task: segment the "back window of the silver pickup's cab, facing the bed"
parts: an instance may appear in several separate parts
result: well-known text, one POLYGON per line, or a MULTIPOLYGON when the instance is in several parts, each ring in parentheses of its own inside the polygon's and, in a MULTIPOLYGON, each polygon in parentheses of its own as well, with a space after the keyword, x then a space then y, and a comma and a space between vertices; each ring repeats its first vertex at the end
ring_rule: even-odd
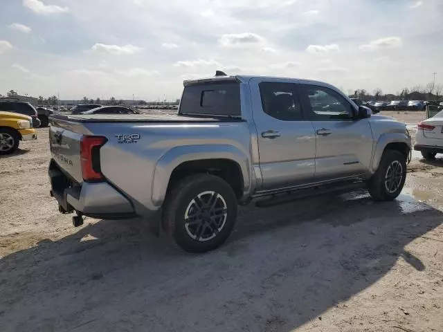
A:
POLYGON ((179 113, 241 116, 240 86, 237 82, 186 86, 179 113))

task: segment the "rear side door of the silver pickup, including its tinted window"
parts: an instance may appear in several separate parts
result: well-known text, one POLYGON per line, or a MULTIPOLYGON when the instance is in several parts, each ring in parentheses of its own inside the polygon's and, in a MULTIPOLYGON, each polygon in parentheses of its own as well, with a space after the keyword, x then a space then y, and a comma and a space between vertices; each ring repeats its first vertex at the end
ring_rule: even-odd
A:
POLYGON ((263 180, 259 191, 314 181, 316 136, 303 116, 296 84, 253 79, 250 86, 263 180))

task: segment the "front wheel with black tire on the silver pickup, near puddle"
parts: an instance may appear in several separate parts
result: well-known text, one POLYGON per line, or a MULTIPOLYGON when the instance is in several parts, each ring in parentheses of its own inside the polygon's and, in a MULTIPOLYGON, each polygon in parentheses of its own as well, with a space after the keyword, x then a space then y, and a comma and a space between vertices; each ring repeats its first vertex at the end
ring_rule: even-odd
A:
POLYGON ((370 195, 377 201, 392 201, 406 181, 406 157, 396 150, 385 150, 379 168, 368 182, 370 195))

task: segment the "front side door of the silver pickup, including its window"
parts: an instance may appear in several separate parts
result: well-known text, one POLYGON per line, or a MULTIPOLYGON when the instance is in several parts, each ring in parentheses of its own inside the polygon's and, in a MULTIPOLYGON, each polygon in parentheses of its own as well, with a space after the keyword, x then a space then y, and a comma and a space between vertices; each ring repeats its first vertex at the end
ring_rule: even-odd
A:
POLYGON ((338 91, 316 84, 299 86, 316 132, 316 181, 368 172, 373 148, 369 120, 354 120, 354 106, 338 91))

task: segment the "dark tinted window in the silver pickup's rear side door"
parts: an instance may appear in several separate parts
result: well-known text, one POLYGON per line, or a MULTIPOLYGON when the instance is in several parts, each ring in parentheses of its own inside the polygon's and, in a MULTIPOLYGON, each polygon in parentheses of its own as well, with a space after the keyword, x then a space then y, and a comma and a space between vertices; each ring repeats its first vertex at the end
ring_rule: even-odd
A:
POLYGON ((302 120, 295 84, 262 82, 260 96, 263 111, 269 116, 285 121, 302 120))

